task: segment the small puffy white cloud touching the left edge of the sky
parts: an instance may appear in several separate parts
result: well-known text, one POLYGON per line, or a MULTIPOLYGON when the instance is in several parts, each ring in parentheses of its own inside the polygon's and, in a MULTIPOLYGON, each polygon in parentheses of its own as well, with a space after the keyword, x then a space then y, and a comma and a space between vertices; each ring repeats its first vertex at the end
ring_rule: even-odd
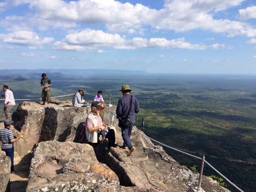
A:
POLYGON ((16 45, 44 45, 51 43, 53 37, 39 38, 33 31, 14 31, 10 34, 0 34, 0 38, 4 39, 5 43, 11 43, 16 45))

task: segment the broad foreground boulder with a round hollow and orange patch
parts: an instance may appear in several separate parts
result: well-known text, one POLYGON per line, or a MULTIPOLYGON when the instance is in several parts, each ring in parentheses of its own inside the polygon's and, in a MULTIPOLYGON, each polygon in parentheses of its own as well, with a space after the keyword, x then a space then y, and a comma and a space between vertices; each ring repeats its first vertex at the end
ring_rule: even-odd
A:
POLYGON ((118 186, 119 179, 90 145, 46 141, 34 151, 26 191, 93 191, 105 185, 118 186))

